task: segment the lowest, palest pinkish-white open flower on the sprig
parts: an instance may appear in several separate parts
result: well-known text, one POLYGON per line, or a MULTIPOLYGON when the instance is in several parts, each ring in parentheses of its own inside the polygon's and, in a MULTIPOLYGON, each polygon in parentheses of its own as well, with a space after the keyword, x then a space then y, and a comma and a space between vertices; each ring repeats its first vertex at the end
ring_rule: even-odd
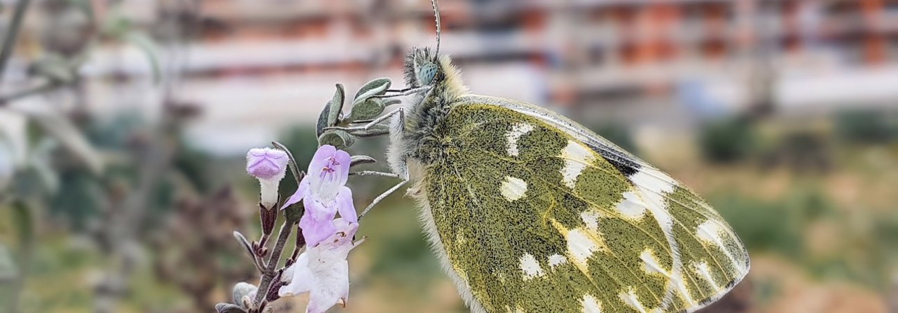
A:
POLYGON ((349 264, 346 258, 349 251, 362 242, 352 242, 358 222, 344 218, 332 222, 337 231, 322 240, 320 245, 308 246, 281 275, 281 281, 286 285, 277 291, 277 295, 290 297, 309 292, 306 313, 323 313, 337 303, 345 306, 349 296, 349 264))

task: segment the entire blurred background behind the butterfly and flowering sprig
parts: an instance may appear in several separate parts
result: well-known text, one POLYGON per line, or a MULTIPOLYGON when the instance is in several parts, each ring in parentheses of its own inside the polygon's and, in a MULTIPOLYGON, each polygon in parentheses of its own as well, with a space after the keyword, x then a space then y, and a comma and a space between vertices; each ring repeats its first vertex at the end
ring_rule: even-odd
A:
MULTIPOLYGON (((705 312, 898 312, 898 1, 440 4, 471 91, 564 113, 726 217, 753 268, 705 312)), ((229 301, 258 281, 231 235, 260 233, 245 152, 305 163, 334 83, 401 86, 434 33, 426 0, 0 0, 0 312, 229 301)), ((350 182, 358 207, 389 184, 350 182)), ((400 194, 332 311, 466 311, 400 194)))

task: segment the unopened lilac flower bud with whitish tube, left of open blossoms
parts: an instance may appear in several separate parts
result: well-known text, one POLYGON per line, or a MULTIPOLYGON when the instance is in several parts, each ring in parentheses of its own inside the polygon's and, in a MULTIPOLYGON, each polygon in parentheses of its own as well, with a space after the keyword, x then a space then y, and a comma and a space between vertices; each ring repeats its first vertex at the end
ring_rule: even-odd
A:
POLYGON ((266 208, 277 204, 277 186, 286 174, 289 161, 286 152, 271 148, 256 148, 246 152, 246 171, 260 183, 260 203, 266 208))

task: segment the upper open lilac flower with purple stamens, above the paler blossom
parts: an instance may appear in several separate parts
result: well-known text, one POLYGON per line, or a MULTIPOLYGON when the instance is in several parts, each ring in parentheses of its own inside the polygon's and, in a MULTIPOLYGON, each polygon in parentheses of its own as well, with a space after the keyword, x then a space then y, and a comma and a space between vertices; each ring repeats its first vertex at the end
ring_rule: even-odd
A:
POLYGON ((308 174, 299 183, 296 193, 282 207, 300 200, 305 205, 299 227, 306 245, 314 247, 337 232, 333 219, 339 212, 348 222, 358 222, 352 190, 346 185, 349 178, 349 153, 332 145, 322 145, 309 164, 308 174))

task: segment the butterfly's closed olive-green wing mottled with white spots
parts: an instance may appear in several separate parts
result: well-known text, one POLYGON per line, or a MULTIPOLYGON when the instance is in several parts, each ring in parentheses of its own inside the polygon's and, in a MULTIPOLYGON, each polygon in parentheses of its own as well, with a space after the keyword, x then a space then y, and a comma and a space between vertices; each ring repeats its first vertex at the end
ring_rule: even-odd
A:
POLYGON ((692 311, 747 274, 741 241, 689 189, 494 100, 454 104, 420 148, 437 247, 475 311, 692 311))

